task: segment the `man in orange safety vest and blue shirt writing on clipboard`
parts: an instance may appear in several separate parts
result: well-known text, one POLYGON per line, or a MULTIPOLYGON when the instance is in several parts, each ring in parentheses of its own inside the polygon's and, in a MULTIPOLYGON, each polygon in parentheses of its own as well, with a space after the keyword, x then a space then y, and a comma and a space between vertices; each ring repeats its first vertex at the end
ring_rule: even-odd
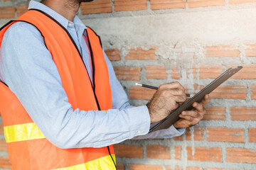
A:
POLYGON ((1 28, 0 112, 12 169, 116 169, 112 145, 174 137, 206 113, 201 103, 149 132, 186 100, 163 84, 146 106, 129 105, 100 38, 76 16, 81 0, 31 1, 1 28))

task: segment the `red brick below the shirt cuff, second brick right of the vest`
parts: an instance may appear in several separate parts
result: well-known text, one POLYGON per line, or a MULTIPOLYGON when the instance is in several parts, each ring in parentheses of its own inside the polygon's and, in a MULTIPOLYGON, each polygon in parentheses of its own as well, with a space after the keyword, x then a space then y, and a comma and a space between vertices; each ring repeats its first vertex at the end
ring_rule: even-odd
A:
POLYGON ((146 157, 152 159, 171 159, 171 153, 169 147, 149 145, 146 147, 146 157))

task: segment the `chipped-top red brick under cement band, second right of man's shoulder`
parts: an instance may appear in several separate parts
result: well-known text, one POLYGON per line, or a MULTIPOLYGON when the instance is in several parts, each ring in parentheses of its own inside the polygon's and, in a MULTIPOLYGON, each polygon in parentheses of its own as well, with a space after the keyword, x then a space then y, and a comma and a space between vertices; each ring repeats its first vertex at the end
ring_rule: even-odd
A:
POLYGON ((149 47, 142 49, 142 47, 132 48, 129 54, 125 57, 126 60, 154 60, 156 59, 157 47, 149 47))

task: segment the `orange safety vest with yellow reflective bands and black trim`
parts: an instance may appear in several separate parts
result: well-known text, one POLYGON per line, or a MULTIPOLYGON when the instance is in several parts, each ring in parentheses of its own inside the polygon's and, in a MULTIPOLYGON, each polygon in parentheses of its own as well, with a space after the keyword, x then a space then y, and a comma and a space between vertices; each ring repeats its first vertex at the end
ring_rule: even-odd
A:
MULTIPOLYGON (((100 37, 87 28, 92 57, 93 82, 68 30, 36 9, 29 10, 16 21, 0 29, 0 45, 6 30, 16 22, 36 26, 58 67, 68 101, 82 111, 107 111, 112 108, 112 94, 100 37), (86 98, 85 98, 86 96, 86 98)), ((0 82, 0 113, 4 121, 4 135, 12 169, 116 169, 114 149, 60 149, 51 144, 38 129, 16 95, 0 82)))

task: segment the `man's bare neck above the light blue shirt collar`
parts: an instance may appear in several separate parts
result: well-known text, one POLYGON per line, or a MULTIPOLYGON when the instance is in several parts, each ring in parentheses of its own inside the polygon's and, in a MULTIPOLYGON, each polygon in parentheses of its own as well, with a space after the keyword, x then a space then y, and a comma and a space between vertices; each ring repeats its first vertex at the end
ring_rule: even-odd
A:
POLYGON ((74 21, 80 6, 75 0, 42 0, 41 3, 60 13, 61 16, 64 16, 71 22, 74 21))

